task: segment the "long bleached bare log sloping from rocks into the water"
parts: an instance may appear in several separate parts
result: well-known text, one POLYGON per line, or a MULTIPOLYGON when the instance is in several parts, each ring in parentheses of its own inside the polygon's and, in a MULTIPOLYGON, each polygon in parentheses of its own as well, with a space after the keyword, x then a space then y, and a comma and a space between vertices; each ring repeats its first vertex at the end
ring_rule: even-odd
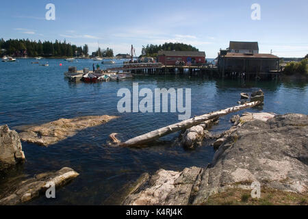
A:
POLYGON ((238 105, 235 107, 229 107, 224 110, 219 110, 216 112, 211 112, 209 114, 204 114, 202 116, 196 116, 194 118, 190 118, 188 120, 183 120, 180 123, 175 123, 172 125, 168 125, 167 127, 163 127, 160 129, 156 129, 154 131, 151 131, 149 133, 145 133, 141 136, 137 136, 135 138, 131 138, 127 140, 126 142, 120 143, 120 146, 142 146, 146 143, 152 142, 153 140, 157 140, 158 138, 161 138, 162 136, 166 136, 170 133, 180 131, 182 129, 189 129, 190 127, 193 127, 194 125, 198 125, 200 123, 203 123, 207 120, 211 120, 213 118, 216 118, 217 116, 225 116, 227 114, 238 112, 240 110, 244 110, 246 108, 255 107, 256 105, 259 105, 260 101, 255 101, 251 103, 245 103, 243 105, 238 105))

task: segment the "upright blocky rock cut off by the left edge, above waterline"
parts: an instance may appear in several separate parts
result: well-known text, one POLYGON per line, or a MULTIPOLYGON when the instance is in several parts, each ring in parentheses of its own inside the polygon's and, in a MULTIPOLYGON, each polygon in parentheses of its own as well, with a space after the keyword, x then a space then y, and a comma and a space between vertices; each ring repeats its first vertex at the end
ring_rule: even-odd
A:
POLYGON ((8 125, 0 126, 0 170, 25 160, 18 133, 8 125))

